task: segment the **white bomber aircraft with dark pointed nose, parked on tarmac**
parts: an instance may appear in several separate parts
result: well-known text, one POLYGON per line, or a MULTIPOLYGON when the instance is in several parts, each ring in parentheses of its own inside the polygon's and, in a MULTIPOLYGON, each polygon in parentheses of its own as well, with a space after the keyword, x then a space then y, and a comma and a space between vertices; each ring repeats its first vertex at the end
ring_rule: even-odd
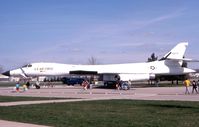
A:
POLYGON ((31 63, 5 72, 8 76, 59 76, 68 74, 116 74, 121 80, 145 80, 157 75, 182 75, 195 72, 182 67, 183 56, 188 43, 179 43, 162 60, 145 63, 108 65, 72 65, 60 63, 31 63))

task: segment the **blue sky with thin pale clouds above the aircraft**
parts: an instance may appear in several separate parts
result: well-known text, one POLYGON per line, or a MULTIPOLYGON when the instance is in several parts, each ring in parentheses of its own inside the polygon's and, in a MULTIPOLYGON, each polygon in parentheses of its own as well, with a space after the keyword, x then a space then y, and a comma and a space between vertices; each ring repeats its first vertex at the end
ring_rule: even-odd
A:
MULTIPOLYGON (((197 0, 0 0, 0 65, 146 62, 189 42, 199 59, 197 0)), ((199 63, 189 63, 199 68, 199 63)))

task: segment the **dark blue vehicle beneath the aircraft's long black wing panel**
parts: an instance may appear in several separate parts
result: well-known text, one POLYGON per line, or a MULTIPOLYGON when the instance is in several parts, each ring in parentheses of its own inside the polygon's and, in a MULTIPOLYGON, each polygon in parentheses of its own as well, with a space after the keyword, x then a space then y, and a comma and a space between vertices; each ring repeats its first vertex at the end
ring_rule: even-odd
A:
POLYGON ((83 78, 67 78, 67 77, 62 78, 63 84, 72 85, 72 86, 76 84, 81 85, 83 81, 84 81, 83 78))

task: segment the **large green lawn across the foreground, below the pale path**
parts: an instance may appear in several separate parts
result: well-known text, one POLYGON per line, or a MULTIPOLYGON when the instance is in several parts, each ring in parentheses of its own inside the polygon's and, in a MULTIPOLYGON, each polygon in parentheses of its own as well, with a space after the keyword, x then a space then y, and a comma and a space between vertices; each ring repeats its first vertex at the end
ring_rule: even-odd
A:
POLYGON ((106 100, 0 107, 0 119, 56 127, 198 127, 199 102, 106 100))

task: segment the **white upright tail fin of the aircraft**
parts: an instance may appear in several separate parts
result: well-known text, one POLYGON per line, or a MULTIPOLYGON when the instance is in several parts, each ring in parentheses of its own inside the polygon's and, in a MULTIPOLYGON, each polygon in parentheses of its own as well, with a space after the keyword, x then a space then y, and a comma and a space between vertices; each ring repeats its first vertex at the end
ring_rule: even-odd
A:
POLYGON ((170 52, 164 55, 160 60, 183 60, 186 48, 188 46, 188 42, 182 42, 177 44, 170 52))

